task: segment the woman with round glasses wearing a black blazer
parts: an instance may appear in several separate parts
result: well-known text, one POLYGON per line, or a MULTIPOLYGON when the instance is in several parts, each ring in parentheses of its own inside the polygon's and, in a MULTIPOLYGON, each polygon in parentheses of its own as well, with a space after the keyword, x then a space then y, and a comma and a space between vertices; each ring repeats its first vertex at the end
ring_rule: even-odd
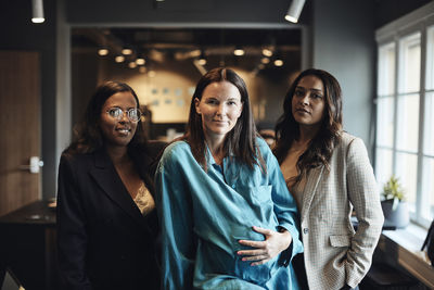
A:
POLYGON ((100 86, 59 167, 66 289, 158 289, 148 152, 136 92, 123 83, 100 86))

